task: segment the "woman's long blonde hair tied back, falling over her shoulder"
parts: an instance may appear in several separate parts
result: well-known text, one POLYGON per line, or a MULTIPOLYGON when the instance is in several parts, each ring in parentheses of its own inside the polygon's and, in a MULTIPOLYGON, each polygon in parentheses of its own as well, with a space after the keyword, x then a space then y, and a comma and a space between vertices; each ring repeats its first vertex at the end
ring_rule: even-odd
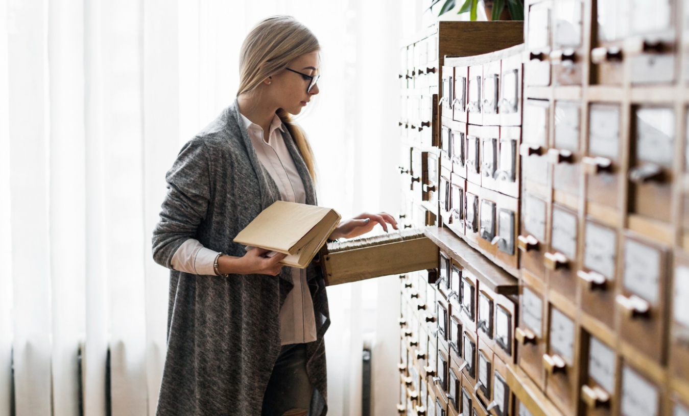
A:
MULTIPOLYGON (((294 17, 274 16, 260 21, 249 32, 239 54, 239 90, 237 96, 253 91, 272 74, 285 70, 295 58, 318 52, 320 45, 311 30, 294 17)), ((316 181, 313 151, 304 131, 291 120, 285 109, 276 111, 294 138, 304 158, 311 179, 316 181)))

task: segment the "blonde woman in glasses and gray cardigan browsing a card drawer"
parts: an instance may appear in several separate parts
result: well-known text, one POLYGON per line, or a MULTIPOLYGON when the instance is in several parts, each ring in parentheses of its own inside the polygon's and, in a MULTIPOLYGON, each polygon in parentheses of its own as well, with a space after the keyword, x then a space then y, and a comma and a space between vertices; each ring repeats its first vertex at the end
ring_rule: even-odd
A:
MULTIPOLYGON (((291 17, 260 22, 240 55, 235 102, 166 175, 153 256, 170 272, 158 415, 324 415, 327 295, 313 265, 232 240, 274 201, 316 204, 313 154, 290 121, 318 94, 318 41, 291 17)), ((331 234, 395 220, 364 213, 331 234)))

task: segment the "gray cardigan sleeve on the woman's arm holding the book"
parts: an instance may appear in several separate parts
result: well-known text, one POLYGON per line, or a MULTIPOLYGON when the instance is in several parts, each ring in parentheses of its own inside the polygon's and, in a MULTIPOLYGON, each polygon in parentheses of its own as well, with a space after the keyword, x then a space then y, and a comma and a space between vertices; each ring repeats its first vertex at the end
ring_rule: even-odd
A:
POLYGON ((211 164, 200 138, 187 142, 165 175, 167 195, 161 206, 161 220, 153 230, 153 259, 174 269, 172 258, 188 239, 195 239, 205 219, 209 201, 211 164))

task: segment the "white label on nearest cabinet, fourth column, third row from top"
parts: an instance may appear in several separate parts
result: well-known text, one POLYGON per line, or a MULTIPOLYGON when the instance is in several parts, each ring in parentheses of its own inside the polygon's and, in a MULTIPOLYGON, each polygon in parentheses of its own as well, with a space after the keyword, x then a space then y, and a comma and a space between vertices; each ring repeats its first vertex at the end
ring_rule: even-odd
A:
POLYGON ((624 287, 657 305, 660 285, 660 252, 638 241, 624 243, 624 287))

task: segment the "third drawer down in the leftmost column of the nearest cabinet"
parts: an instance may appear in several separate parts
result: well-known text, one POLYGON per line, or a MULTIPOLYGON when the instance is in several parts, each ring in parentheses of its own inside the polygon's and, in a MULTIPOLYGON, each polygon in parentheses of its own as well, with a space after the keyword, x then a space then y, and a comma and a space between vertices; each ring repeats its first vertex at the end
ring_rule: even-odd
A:
POLYGON ((533 193, 526 193, 522 199, 522 234, 517 239, 520 249, 520 264, 542 281, 545 280, 544 254, 548 252, 548 211, 550 204, 533 193))

